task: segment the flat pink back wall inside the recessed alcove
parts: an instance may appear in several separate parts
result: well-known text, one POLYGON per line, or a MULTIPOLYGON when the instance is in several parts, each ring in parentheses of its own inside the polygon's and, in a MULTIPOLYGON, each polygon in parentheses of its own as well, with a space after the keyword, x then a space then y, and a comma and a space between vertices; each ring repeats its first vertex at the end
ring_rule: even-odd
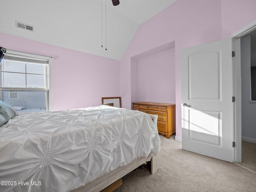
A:
POLYGON ((174 48, 139 59, 138 73, 138 101, 175 103, 174 48))

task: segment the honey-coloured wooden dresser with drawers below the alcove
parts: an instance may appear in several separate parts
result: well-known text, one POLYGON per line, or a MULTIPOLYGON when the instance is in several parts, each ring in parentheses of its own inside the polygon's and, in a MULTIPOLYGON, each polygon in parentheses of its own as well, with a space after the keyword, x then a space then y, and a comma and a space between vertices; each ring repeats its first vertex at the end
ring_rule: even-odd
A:
POLYGON ((158 132, 170 138, 175 134, 175 104, 171 103, 154 103, 154 102, 134 102, 133 110, 139 110, 148 114, 158 115, 157 127, 158 132))

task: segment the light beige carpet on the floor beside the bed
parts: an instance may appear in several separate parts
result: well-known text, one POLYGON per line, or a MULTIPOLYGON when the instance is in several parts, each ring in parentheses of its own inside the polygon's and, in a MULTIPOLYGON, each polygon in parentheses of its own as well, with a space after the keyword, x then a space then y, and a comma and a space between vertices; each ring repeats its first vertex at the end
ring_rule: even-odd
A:
POLYGON ((160 135, 158 170, 147 164, 123 177, 114 192, 256 192, 256 144, 242 142, 242 163, 230 163, 182 149, 160 135))

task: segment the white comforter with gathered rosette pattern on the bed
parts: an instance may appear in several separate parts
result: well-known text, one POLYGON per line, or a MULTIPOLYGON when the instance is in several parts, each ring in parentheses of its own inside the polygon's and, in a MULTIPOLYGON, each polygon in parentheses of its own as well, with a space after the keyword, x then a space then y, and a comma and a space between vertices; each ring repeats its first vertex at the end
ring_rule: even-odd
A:
POLYGON ((0 127, 1 192, 67 192, 157 155, 152 119, 110 106, 24 113, 0 127))

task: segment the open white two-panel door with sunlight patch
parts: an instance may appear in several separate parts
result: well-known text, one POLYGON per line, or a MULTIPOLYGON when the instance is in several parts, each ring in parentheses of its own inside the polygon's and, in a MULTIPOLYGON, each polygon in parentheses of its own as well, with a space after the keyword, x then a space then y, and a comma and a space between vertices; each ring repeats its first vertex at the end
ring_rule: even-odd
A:
POLYGON ((233 162, 232 39, 182 49, 182 148, 233 162))

